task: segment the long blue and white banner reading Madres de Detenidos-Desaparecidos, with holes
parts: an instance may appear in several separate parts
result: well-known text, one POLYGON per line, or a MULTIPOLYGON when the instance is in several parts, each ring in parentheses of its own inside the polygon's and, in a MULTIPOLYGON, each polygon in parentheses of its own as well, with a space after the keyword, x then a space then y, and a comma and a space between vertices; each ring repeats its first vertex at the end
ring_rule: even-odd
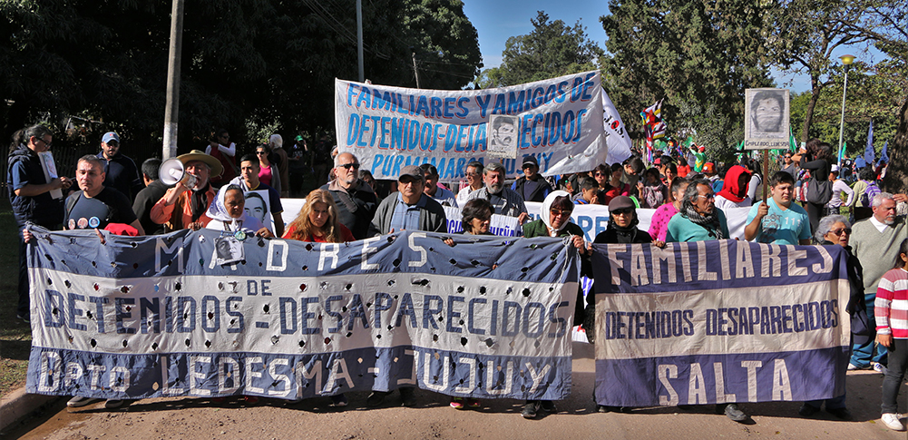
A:
POLYGON ((242 262, 219 266, 212 230, 34 232, 29 393, 570 393, 579 258, 563 240, 249 237, 242 262))

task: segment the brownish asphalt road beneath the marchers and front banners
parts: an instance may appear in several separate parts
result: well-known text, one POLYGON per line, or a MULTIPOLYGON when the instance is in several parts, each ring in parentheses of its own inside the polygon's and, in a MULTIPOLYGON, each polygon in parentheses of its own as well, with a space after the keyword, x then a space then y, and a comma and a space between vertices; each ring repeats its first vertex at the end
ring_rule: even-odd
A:
MULTIPOLYGON (((834 438, 908 439, 879 421, 883 376, 850 372, 847 405, 850 422, 825 412, 813 418, 797 415, 799 402, 744 404, 749 425, 713 414, 713 406, 692 411, 677 408, 637 409, 630 414, 599 414, 592 401, 595 383, 592 346, 574 343, 573 392, 558 402, 556 414, 525 420, 521 401, 483 401, 479 410, 455 410, 446 396, 417 391, 415 408, 398 406, 397 393, 384 406, 366 408, 367 393, 350 393, 350 406, 335 409, 328 398, 298 405, 262 399, 254 406, 242 400, 213 404, 209 399, 140 400, 109 411, 103 403, 69 409, 65 400, 43 416, 27 421, 7 438, 47 439, 583 439, 583 438, 834 438)), ((906 408, 903 389, 900 409, 906 408)))

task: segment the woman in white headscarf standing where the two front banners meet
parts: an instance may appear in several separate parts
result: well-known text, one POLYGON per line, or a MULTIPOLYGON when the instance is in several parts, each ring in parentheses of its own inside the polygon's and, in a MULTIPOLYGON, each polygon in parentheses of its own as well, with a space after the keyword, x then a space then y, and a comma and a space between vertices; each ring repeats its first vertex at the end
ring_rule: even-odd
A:
MULTIPOLYGON (((577 248, 581 256, 587 256, 587 246, 583 240, 583 230, 570 221, 571 212, 574 210, 574 202, 570 200, 568 191, 552 191, 542 201, 542 210, 539 211, 539 220, 533 220, 523 225, 523 236, 528 239, 534 237, 570 237, 571 244, 577 248)), ((578 307, 575 308, 583 314, 583 293, 579 293, 578 307)), ((575 325, 578 317, 575 316, 575 325)), ((534 418, 539 410, 548 413, 555 412, 555 403, 551 400, 528 400, 523 406, 520 416, 524 418, 534 418)))

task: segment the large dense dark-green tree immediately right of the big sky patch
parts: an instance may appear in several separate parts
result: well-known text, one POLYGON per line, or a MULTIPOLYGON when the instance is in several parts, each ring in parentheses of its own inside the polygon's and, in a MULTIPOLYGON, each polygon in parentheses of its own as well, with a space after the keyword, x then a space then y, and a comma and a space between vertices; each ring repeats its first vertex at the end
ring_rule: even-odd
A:
MULTIPOLYGON (((613 58, 605 64, 618 112, 665 98, 670 130, 689 129, 709 154, 730 159, 743 134, 744 91, 772 82, 764 17, 770 5, 732 0, 611 0, 599 18, 613 58)), ((625 118, 641 132, 636 118, 625 118)))

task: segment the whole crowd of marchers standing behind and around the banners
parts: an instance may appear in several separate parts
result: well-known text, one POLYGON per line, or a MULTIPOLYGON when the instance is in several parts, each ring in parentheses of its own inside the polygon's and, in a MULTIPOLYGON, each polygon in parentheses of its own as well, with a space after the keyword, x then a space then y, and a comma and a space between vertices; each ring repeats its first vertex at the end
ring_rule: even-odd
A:
MULTIPOLYGON (((584 240, 583 230, 570 221, 577 205, 608 207, 607 229, 596 236, 595 243, 652 243, 658 247, 678 241, 730 239, 725 210, 749 207, 745 240, 846 249, 851 285, 846 309, 854 339, 848 369, 883 372, 883 423, 904 429, 895 396, 908 367, 908 225, 905 216, 896 213, 897 204, 904 205, 908 197, 880 191, 876 181, 881 170, 871 166, 850 173, 860 179, 849 185, 840 178, 827 143, 811 140, 803 150, 785 153, 780 170, 768 178, 761 174, 758 161, 745 158, 716 164, 706 160, 702 147, 692 146, 689 152, 656 154, 649 166, 634 155, 588 172, 548 177, 540 174, 537 159, 530 155, 522 159, 522 175, 510 184, 497 161, 469 162, 465 180, 449 182, 449 186, 439 182, 434 166, 408 165, 400 169, 397 181, 390 182, 394 190, 390 193, 382 191, 368 171, 360 170, 359 158, 342 152, 327 159, 333 161, 330 169, 320 163, 314 170, 331 177, 306 195, 306 203, 286 229, 281 198, 295 193, 292 189, 299 184, 290 171, 308 167, 295 162, 302 161, 305 151, 301 137, 294 148, 283 151, 281 136, 272 135, 255 154, 242 156, 236 164, 237 148, 229 133, 215 132, 204 152, 178 157, 186 176, 171 186, 159 179, 160 160, 148 159, 141 168, 136 167, 123 154, 115 132, 104 134, 101 152, 79 159, 74 180, 45 177, 40 153, 49 151, 52 143, 53 132, 35 125, 17 133, 9 153, 7 185, 21 231, 20 319, 27 321, 30 316, 25 266, 25 246, 32 238, 30 225, 129 235, 220 230, 230 239, 223 246, 218 243, 219 260, 226 263, 238 258, 232 243, 247 236, 346 242, 400 230, 445 232, 448 219, 443 207, 451 206, 459 207, 465 234, 490 234, 489 221, 498 214, 515 217, 524 237, 569 238, 583 259, 582 272, 594 278, 587 257, 590 243, 584 240), (74 184, 77 189, 72 188, 74 184), (765 200, 760 191, 763 185, 768 190, 765 200), (267 194, 271 218, 256 215, 262 191, 267 194), (529 219, 527 201, 541 202, 538 220, 529 219), (637 228, 640 209, 655 210, 648 230, 637 228)), ((590 342, 595 343, 594 309, 591 296, 585 300, 578 291, 575 325, 585 328, 590 342)), ((375 391, 367 403, 379 406, 387 396, 375 391)), ((95 400, 76 396, 70 406, 95 400)), ((400 400, 404 406, 414 405, 414 388, 400 388, 400 400)), ((332 401, 335 406, 347 405, 343 395, 333 396, 332 401)), ((122 405, 123 401, 106 403, 108 407, 122 405)), ((812 416, 823 405, 834 416, 851 417, 844 395, 825 402, 804 402, 799 414, 812 416)), ((450 406, 461 409, 479 406, 479 402, 455 397, 450 406)), ((531 400, 521 414, 533 418, 554 408, 553 402, 531 400)), ((718 405, 716 411, 738 422, 748 418, 736 403, 718 405)))

